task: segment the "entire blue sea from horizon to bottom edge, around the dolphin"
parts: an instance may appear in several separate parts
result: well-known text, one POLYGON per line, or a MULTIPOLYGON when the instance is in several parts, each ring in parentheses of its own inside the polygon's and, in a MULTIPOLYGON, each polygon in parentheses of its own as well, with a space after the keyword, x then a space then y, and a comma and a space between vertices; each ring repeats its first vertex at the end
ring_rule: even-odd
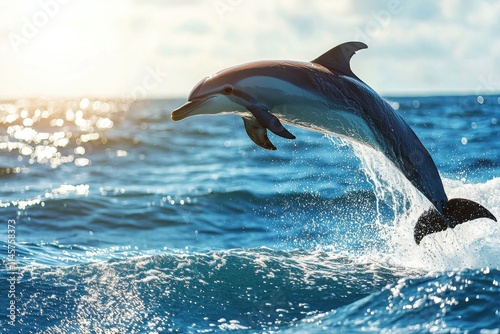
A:
MULTIPOLYGON (((390 101, 500 217, 500 97, 390 101)), ((379 153, 182 102, 0 102, 3 332, 499 333, 500 223, 417 246, 430 203, 379 153)))

